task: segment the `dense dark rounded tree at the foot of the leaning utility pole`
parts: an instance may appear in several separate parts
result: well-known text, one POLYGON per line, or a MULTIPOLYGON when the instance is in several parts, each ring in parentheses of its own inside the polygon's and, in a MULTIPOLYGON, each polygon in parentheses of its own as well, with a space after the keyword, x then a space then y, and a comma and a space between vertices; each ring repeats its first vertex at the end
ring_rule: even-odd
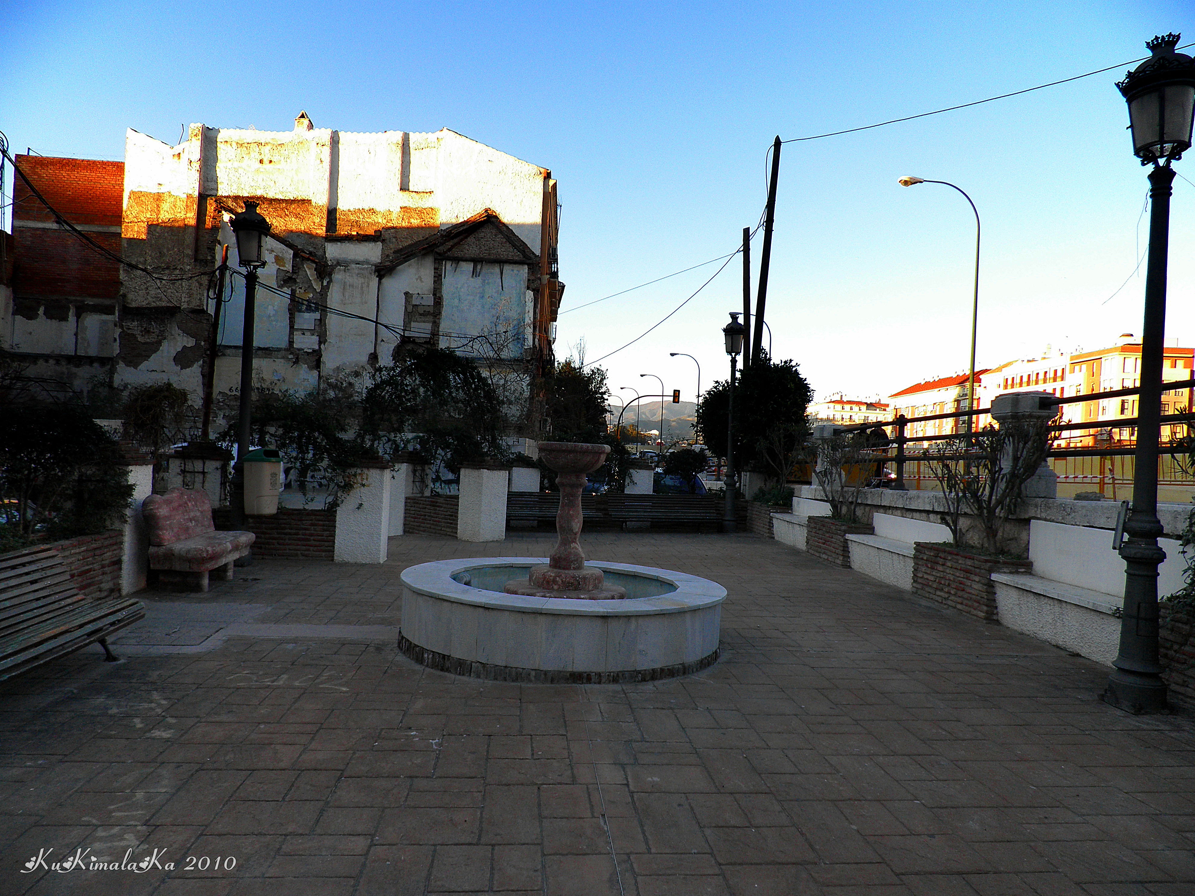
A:
MULTIPOLYGON (((727 405, 730 383, 715 382, 697 406, 694 430, 710 450, 727 456, 727 405)), ((793 361, 772 361, 760 352, 735 383, 735 466, 762 467, 788 477, 808 436, 805 407, 813 391, 793 361), (795 462, 795 461, 793 461, 795 462)))

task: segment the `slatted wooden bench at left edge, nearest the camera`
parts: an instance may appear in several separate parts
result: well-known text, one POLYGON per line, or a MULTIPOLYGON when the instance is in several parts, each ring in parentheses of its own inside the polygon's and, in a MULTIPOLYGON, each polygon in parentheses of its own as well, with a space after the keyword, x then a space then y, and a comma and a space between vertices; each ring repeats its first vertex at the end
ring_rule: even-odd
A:
POLYGON ((51 547, 0 557, 0 680, 19 675, 88 644, 115 662, 108 638, 143 619, 131 597, 92 600, 79 593, 71 570, 51 547))

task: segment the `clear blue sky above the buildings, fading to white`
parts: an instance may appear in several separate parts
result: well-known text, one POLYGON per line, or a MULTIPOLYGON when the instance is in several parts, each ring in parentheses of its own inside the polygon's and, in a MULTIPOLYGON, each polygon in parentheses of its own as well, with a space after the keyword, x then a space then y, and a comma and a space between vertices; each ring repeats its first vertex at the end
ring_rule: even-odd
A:
MULTIPOLYGON (((54 2, 10 0, 0 130, 19 152, 120 159, 124 129, 189 122, 341 130, 448 127, 552 170, 563 308, 733 251, 784 139, 870 124, 1195 39, 1189 1, 54 2)), ((1140 332, 1145 171, 1109 72, 782 153, 767 319, 819 394, 882 394, 967 366, 973 219, 983 219, 979 364, 1140 332), (1140 219, 1140 220, 1139 220, 1140 219), (1113 293, 1128 283, 1115 296, 1113 293)), ((1195 153, 1178 162, 1195 180, 1195 153)), ((10 184, 11 186, 11 184, 10 184)), ((1176 180, 1168 336, 1195 344, 1195 186, 1176 180)), ((761 235, 753 244, 758 270, 761 235)), ((562 315, 593 360, 713 272, 562 315)), ((611 385, 724 378, 741 264, 630 349, 611 385)), ((649 387, 650 388, 650 387, 649 387)))

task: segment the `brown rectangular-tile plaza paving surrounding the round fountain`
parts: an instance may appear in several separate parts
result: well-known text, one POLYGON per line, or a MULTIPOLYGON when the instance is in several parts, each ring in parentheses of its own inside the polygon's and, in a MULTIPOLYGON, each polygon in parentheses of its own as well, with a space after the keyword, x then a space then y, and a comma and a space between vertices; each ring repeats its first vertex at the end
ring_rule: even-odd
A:
POLYGON ((146 593, 121 663, 0 685, 0 894, 1195 894, 1190 716, 1126 716, 1096 663, 774 541, 583 535, 727 587, 697 675, 495 683, 397 652, 405 566, 551 545, 259 560, 146 593))

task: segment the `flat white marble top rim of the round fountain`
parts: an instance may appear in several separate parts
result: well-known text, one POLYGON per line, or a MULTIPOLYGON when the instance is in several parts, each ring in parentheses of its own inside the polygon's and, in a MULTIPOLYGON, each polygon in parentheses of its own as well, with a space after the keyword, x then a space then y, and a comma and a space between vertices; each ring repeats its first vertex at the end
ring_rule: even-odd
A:
POLYGON ((502 591, 489 591, 472 585, 462 585, 453 579, 459 572, 478 566, 521 566, 546 564, 546 557, 468 557, 455 560, 433 560, 407 566, 402 581, 406 588, 429 597, 522 613, 558 613, 578 616, 633 616, 663 613, 686 613, 711 607, 727 597, 727 589, 707 578, 675 570, 641 566, 631 563, 588 560, 587 566, 596 566, 607 572, 624 572, 645 578, 655 578, 675 585, 676 590, 656 597, 630 597, 617 601, 582 601, 568 597, 527 597, 502 591))

